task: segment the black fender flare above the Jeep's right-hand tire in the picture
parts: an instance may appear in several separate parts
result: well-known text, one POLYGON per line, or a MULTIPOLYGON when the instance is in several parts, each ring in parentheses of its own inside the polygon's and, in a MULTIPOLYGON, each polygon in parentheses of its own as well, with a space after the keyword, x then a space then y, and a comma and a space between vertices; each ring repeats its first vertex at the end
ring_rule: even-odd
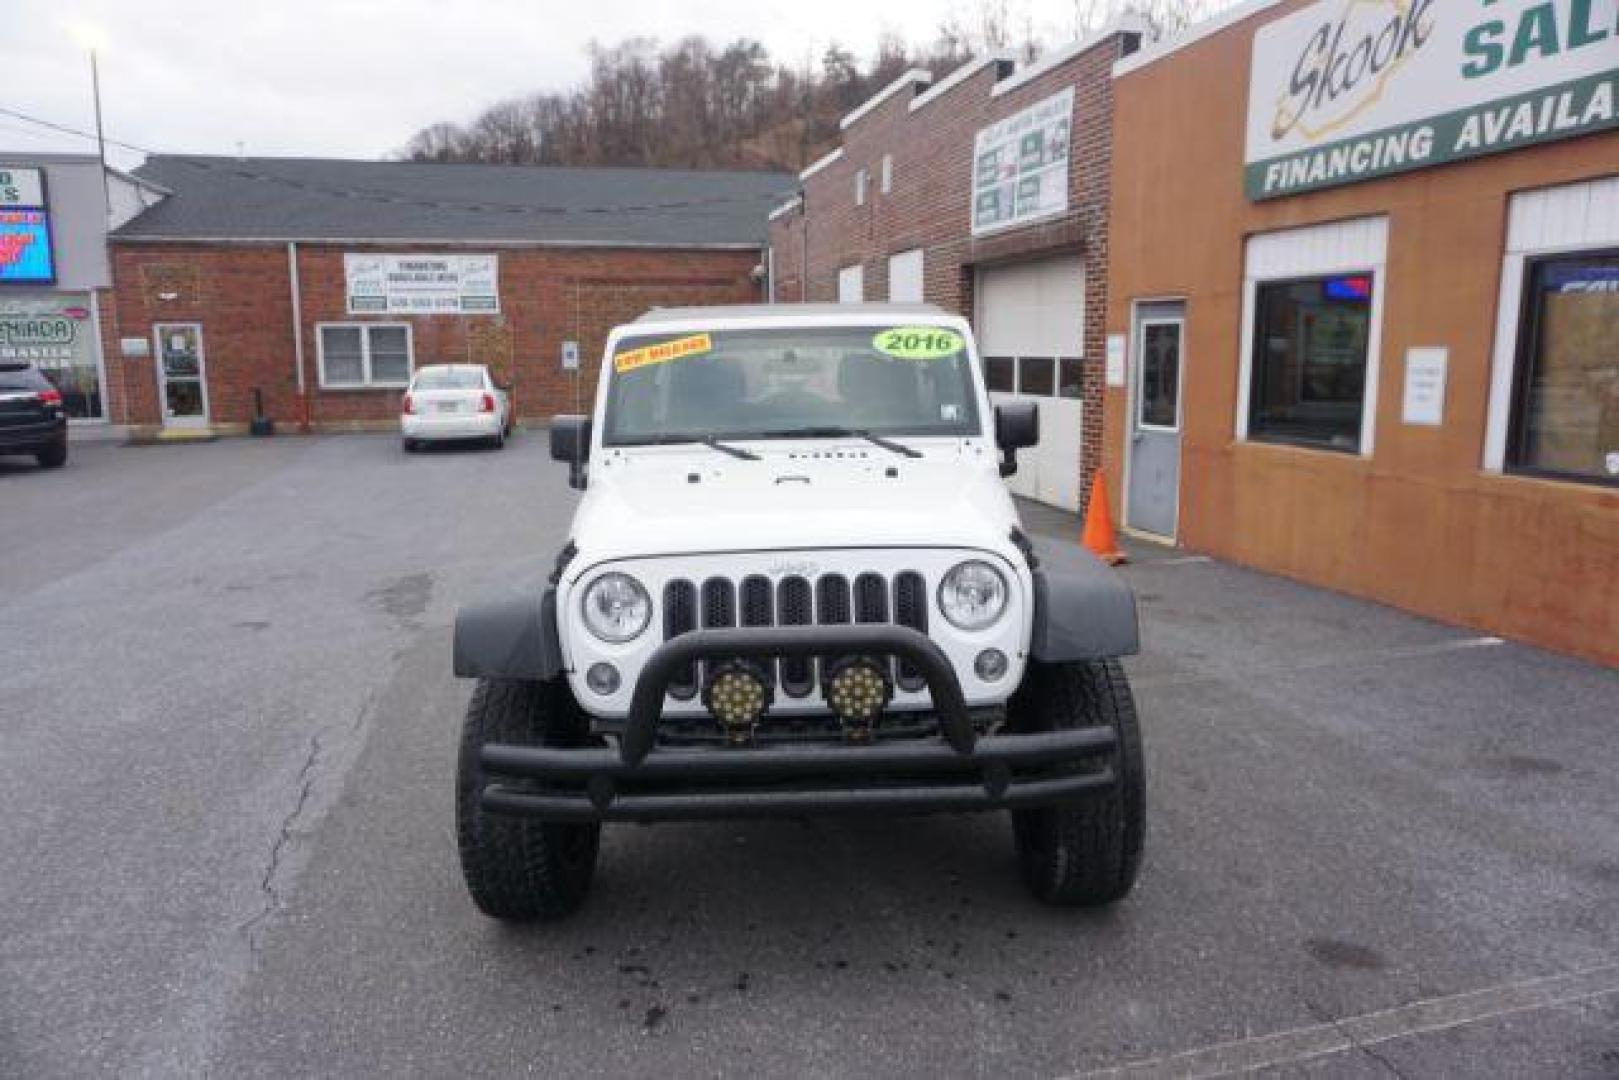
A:
POLYGON ((1035 539, 1030 654, 1044 664, 1106 661, 1141 651, 1135 593, 1078 544, 1035 539))

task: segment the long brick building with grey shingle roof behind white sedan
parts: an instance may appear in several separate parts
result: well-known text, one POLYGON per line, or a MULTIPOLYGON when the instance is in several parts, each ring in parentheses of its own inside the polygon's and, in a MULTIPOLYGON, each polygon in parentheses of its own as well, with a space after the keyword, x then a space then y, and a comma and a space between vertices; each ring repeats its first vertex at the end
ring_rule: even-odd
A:
POLYGON ((520 416, 589 400, 607 330, 764 288, 780 173, 149 159, 110 236, 110 416, 392 426, 410 372, 482 363, 520 416), (562 368, 576 342, 581 377, 562 368))

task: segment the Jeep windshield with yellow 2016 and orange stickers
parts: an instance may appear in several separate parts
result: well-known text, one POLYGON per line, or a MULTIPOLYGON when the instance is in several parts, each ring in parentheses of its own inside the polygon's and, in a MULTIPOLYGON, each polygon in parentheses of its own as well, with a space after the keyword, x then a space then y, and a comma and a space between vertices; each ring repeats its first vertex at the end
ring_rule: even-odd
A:
POLYGON ((602 440, 981 434, 967 340, 939 325, 780 327, 627 337, 602 440))

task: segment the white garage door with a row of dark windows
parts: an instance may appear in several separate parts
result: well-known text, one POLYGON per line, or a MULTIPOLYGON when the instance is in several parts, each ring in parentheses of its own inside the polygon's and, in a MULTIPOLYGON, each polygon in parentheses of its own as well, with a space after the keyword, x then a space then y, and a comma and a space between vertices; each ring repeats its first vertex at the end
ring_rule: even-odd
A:
POLYGON ((1039 403, 1039 445, 1018 453, 1018 495, 1080 508, 1085 267, 1043 259, 978 272, 978 350, 994 402, 1039 403))

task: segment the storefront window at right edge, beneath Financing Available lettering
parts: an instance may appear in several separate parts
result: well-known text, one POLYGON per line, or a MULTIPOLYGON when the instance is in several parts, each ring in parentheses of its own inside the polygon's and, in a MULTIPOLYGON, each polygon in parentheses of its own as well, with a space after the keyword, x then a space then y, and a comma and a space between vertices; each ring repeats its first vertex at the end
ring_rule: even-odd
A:
POLYGON ((1530 267, 1509 465, 1619 484, 1619 251, 1530 267))

